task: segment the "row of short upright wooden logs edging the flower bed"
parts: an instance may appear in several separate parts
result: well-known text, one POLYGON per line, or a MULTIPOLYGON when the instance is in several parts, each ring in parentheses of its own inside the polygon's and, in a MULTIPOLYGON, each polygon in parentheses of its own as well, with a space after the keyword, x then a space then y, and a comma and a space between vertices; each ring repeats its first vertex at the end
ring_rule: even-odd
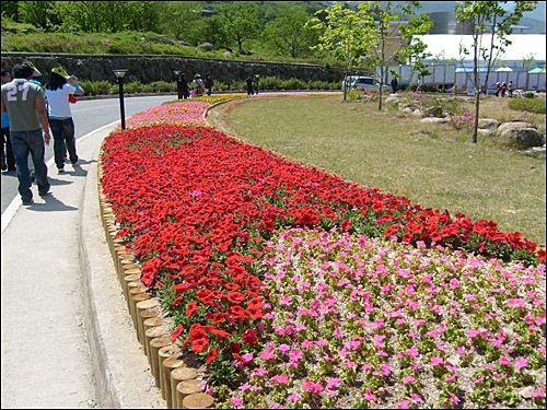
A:
MULTIPOLYGON (((100 152, 103 152, 103 145, 100 152)), ((101 221, 136 338, 148 356, 151 373, 166 401, 166 408, 213 408, 213 397, 201 393, 199 388, 199 371, 186 366, 182 359, 181 347, 171 341, 173 324, 170 318, 164 317, 159 298, 149 293, 149 289, 140 281, 141 271, 137 259, 127 250, 124 241, 116 237, 119 226, 116 224, 115 211, 103 192, 102 176, 103 164, 100 155, 97 191, 101 221), (173 374, 181 368, 184 372, 173 374)))

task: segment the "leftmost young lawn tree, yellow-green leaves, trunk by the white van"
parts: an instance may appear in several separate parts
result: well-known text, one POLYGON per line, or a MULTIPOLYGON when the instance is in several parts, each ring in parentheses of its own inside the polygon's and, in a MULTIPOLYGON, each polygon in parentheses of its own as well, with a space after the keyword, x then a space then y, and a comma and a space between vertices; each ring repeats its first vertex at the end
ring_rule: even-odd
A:
MULTIPOLYGON (((337 1, 324 11, 316 12, 315 15, 325 13, 325 21, 317 16, 311 19, 307 27, 321 30, 319 43, 316 48, 328 50, 335 59, 344 63, 344 81, 350 69, 359 67, 360 57, 369 50, 373 43, 373 33, 366 30, 366 22, 371 19, 366 13, 354 12, 346 9, 337 1)), ((344 87, 344 101, 347 98, 347 86, 344 87)))

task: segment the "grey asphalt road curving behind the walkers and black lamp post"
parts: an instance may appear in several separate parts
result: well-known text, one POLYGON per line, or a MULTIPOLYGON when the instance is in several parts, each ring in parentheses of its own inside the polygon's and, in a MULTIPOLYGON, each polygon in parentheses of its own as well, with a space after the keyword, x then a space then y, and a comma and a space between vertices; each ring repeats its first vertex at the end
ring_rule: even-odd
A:
MULTIPOLYGON (((175 99, 176 95, 154 95, 154 96, 136 96, 125 97, 126 118, 131 115, 142 112, 148 108, 155 107, 165 101, 175 99)), ((120 119, 119 99, 85 99, 79 101, 72 107, 72 118, 75 126, 77 151, 78 140, 83 136, 101 128, 107 124, 120 119)), ((46 145, 46 163, 54 156, 54 141, 46 145)), ((96 159, 82 159, 96 160, 96 159)), ((69 165, 70 167, 70 165, 69 165)), ((55 168, 55 167, 54 167, 55 168)), ((54 171, 54 174, 56 171, 54 171)), ((55 176, 55 175, 50 175, 55 176)), ((1 192, 2 192, 2 213, 5 211, 11 201, 19 196, 18 192, 18 176, 15 172, 2 172, 1 192)))

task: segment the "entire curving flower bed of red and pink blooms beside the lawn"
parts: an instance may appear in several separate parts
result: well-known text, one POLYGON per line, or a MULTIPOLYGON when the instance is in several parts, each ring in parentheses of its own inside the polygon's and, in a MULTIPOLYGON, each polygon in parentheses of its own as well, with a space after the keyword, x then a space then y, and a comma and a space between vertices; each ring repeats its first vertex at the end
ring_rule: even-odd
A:
POLYGON ((102 186, 217 407, 545 407, 543 249, 229 138, 207 98, 129 118, 102 186))

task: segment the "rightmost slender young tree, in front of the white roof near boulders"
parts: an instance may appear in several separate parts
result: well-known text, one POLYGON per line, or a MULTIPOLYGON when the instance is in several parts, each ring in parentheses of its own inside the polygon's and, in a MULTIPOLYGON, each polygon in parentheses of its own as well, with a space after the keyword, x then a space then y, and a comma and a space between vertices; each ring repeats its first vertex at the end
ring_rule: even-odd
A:
MULTIPOLYGON (((512 25, 519 24, 526 11, 536 8, 537 1, 515 1, 513 11, 503 8, 508 1, 458 1, 456 4, 456 21, 472 22, 473 31, 473 86, 475 93, 475 124, 473 127, 473 143, 477 143, 479 105, 480 105, 480 75, 478 72, 479 57, 486 61, 486 82, 496 58, 511 44, 508 38, 513 30, 512 25), (488 33, 488 34, 487 34, 488 33), (482 37, 487 34, 486 44, 482 37), (494 39, 499 45, 494 44, 494 39)), ((466 48, 461 49, 461 55, 468 55, 466 48)), ((463 57, 462 57, 463 59, 463 57)))

